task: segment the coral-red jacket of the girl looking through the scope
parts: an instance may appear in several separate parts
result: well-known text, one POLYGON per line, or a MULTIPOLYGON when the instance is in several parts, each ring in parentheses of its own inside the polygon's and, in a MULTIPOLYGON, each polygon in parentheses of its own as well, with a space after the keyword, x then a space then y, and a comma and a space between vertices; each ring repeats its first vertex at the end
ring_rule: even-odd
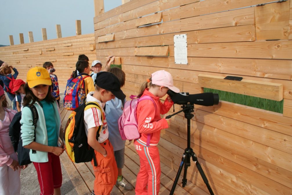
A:
POLYGON ((137 106, 138 131, 141 134, 138 141, 146 144, 147 134, 151 134, 150 146, 156 146, 160 140, 161 129, 168 128, 166 119, 161 119, 160 114, 166 114, 173 105, 173 101, 168 102, 166 99, 164 103, 162 103, 159 97, 154 96, 148 90, 149 89, 146 88, 141 97, 149 95, 153 98, 155 106, 151 100, 143 100, 139 102, 137 106))

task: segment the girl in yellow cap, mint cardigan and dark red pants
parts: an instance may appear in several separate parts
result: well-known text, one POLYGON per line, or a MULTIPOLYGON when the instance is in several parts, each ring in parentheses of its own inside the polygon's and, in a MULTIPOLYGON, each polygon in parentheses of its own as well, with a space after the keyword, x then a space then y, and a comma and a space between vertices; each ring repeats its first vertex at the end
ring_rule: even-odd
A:
POLYGON ((65 149, 63 142, 58 145, 58 137, 63 140, 63 133, 60 131, 60 112, 57 101, 51 95, 51 85, 45 68, 34 67, 28 71, 20 124, 22 145, 30 149, 29 158, 36 168, 41 194, 58 195, 62 185, 59 156, 65 149), (38 114, 36 128, 29 108, 32 106, 38 114))

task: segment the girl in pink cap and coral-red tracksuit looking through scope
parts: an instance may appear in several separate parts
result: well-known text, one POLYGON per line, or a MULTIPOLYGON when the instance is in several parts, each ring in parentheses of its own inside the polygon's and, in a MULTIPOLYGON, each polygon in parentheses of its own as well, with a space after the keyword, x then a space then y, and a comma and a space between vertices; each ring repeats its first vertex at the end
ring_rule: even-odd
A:
POLYGON ((140 171, 135 187, 136 194, 159 193, 161 169, 157 145, 161 129, 166 129, 170 125, 170 119, 166 119, 166 116, 161 119, 160 114, 166 114, 173 105, 169 95, 164 103, 159 99, 164 97, 169 89, 176 93, 180 91, 173 86, 171 74, 164 70, 152 73, 151 77, 140 88, 138 96, 150 96, 154 102, 143 100, 137 106, 138 130, 141 137, 134 141, 135 149, 140 157, 140 171))

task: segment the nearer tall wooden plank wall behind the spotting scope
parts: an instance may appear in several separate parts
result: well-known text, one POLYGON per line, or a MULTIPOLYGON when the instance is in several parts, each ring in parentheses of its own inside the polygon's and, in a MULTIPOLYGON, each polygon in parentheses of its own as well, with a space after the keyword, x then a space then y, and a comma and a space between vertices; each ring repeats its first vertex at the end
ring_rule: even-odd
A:
MULTIPOLYGON (((185 92, 201 93, 209 84, 284 98, 284 114, 224 101, 195 105, 191 147, 215 194, 292 194, 292 4, 270 2, 132 0, 94 18, 96 57, 103 62, 108 55, 121 57, 127 96, 164 69, 185 92), (174 63, 177 34, 187 34, 188 65, 174 63), (243 77, 245 83, 225 76, 243 77)), ((186 139, 186 119, 175 115, 171 128, 161 131, 161 162, 177 171, 186 139)), ((187 173, 208 192, 195 163, 187 173)))

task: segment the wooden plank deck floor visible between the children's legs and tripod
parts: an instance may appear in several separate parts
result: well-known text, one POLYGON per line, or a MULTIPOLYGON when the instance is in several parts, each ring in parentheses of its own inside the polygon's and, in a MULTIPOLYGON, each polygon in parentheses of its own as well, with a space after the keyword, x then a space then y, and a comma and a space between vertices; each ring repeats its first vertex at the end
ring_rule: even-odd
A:
MULTIPOLYGON (((64 128, 71 111, 67 111, 61 107, 60 112, 62 127, 64 128)), ((90 194, 93 189, 94 181, 93 168, 91 163, 73 163, 65 153, 60 156, 60 160, 64 165, 77 193, 81 195, 90 194)), ((131 143, 125 148, 125 166, 123 168, 123 176, 129 183, 133 185, 134 188, 136 184, 136 177, 139 172, 139 164, 139 156, 135 152, 133 143, 131 143)), ((161 185, 159 194, 166 195, 170 193, 175 176, 175 171, 161 163, 161 185)), ((179 179, 178 183, 181 183, 181 178, 179 179)), ((191 182, 187 182, 187 186, 184 188, 182 188, 180 185, 177 185, 175 194, 207 194, 191 182)), ((126 191, 123 189, 123 187, 117 186, 114 186, 113 191, 116 192, 116 194, 135 194, 134 189, 131 191, 126 191)))

